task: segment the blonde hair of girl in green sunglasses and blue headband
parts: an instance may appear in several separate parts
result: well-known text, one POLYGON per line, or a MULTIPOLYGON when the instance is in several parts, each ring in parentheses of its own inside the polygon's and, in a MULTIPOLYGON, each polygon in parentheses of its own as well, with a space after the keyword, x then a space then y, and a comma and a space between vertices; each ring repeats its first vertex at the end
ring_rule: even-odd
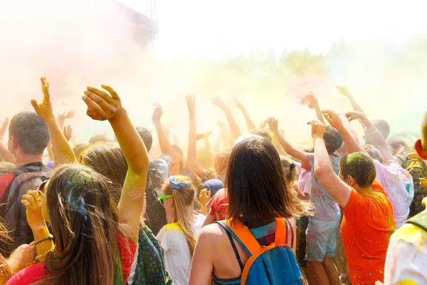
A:
POLYGON ((191 179, 186 176, 176 175, 170 177, 163 185, 164 195, 172 195, 174 198, 174 222, 179 224, 185 236, 186 242, 189 245, 190 256, 193 256, 194 247, 196 246, 197 235, 191 227, 191 222, 186 219, 185 209, 194 210, 194 200, 196 198, 196 187, 194 187, 191 179), (176 183, 187 185, 179 187, 179 190, 172 190, 171 181, 176 179, 176 183))

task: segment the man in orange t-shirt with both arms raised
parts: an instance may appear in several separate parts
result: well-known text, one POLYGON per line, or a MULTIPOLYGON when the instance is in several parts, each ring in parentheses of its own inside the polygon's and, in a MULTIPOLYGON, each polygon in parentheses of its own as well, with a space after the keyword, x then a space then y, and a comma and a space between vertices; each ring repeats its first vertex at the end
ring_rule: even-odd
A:
POLYGON ((310 122, 315 143, 315 175, 344 211, 342 244, 352 284, 374 284, 384 279, 384 262, 395 222, 391 203, 375 180, 374 161, 344 128, 337 113, 322 112, 336 128, 347 149, 339 162, 339 176, 330 164, 323 133, 325 125, 310 122))

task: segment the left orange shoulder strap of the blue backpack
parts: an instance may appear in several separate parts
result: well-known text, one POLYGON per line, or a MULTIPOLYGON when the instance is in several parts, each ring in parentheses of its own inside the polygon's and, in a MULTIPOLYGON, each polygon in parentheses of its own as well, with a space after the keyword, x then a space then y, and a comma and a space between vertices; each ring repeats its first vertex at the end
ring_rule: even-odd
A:
POLYGON ((236 242, 241 245, 241 247, 245 250, 245 252, 251 257, 255 252, 261 248, 260 244, 256 241, 255 237, 253 237, 251 231, 239 220, 236 220, 235 223, 231 223, 231 219, 226 219, 218 224, 226 229, 236 242))

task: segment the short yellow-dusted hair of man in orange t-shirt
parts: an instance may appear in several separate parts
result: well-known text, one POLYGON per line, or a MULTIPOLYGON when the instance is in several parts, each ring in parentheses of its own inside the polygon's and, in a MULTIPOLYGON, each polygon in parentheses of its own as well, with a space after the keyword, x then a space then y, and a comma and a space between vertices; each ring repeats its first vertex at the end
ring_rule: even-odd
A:
POLYGON ((344 179, 353 177, 359 187, 372 185, 376 177, 374 160, 364 152, 354 152, 342 157, 339 170, 344 179))

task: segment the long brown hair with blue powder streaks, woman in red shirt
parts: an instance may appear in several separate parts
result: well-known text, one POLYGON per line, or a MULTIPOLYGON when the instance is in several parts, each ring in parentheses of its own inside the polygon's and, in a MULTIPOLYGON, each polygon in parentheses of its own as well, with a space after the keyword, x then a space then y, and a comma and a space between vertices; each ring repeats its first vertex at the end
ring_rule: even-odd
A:
POLYGON ((50 275, 36 284, 113 284, 120 227, 105 177, 65 165, 53 173, 46 196, 56 247, 46 257, 50 275))

